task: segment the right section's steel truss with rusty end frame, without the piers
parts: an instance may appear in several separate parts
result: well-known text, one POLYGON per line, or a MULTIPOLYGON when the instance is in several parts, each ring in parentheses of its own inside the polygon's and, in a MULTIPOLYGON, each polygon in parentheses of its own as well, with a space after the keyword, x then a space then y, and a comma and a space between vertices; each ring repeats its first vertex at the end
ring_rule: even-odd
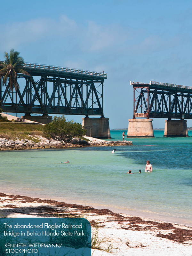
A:
POLYGON ((133 118, 192 119, 192 87, 150 81, 133 86, 133 118))

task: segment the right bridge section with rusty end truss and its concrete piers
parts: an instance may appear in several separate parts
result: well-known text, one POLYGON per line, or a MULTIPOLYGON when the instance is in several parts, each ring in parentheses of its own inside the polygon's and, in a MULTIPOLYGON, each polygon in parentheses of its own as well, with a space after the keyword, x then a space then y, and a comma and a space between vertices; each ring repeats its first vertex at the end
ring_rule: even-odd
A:
POLYGON ((192 119, 192 87, 154 81, 130 84, 133 86, 133 118, 129 119, 128 137, 154 137, 150 118, 167 118, 164 137, 188 137, 184 119, 192 119), (136 119, 138 117, 146 119, 136 119))

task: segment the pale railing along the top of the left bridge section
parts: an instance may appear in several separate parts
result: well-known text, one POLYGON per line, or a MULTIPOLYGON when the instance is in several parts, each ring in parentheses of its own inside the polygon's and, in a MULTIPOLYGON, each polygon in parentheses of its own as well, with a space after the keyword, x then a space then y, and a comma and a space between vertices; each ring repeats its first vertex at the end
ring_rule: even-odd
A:
MULTIPOLYGON (((0 61, 5 63, 4 60, 0 60, 0 61)), ((63 72, 63 73, 80 74, 80 75, 85 75, 85 76, 96 76, 96 77, 107 78, 107 73, 95 72, 95 71, 89 71, 89 70, 82 70, 82 69, 77 69, 77 68, 65 68, 65 67, 58 67, 58 66, 28 63, 28 62, 25 62, 23 67, 24 68, 40 69, 40 70, 59 71, 59 72, 63 72)))

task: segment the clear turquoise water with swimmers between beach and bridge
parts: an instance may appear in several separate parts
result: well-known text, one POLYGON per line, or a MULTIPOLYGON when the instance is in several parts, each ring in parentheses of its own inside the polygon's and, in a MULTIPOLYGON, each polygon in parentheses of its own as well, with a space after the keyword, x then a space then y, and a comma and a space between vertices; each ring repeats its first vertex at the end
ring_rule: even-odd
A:
MULTIPOLYGON (((133 146, 1 151, 1 192, 52 198, 192 226, 192 132, 133 146), (59 164, 66 162, 69 164, 59 164), (153 166, 145 173, 146 161, 153 166), (131 169, 134 174, 126 174, 131 169), (139 169, 141 173, 139 174, 139 169)), ((122 140, 122 131, 111 131, 122 140)))

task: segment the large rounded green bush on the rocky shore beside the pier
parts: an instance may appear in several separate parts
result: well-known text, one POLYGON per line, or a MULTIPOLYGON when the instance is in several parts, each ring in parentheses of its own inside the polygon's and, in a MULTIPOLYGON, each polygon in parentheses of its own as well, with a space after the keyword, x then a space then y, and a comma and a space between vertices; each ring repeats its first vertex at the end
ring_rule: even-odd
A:
POLYGON ((71 140, 73 137, 85 135, 86 130, 79 123, 73 120, 66 121, 65 116, 55 116, 51 123, 44 126, 44 134, 48 138, 60 138, 61 140, 71 140))

